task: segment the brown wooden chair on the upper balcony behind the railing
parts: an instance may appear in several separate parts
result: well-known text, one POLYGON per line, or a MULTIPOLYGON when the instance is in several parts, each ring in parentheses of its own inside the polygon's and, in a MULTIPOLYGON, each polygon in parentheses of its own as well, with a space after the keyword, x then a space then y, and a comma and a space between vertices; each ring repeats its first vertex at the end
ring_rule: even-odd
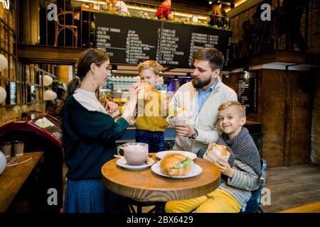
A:
MULTIPOLYGON (((73 33, 73 47, 78 47, 78 27, 71 24, 65 24, 67 20, 65 20, 65 16, 70 15, 73 18, 73 11, 61 11, 58 16, 57 20, 55 21, 55 47, 58 45, 58 36, 60 31, 64 29, 69 29, 73 33), (63 23, 60 23, 63 21, 63 23)), ((64 40, 65 45, 65 40, 64 40)))

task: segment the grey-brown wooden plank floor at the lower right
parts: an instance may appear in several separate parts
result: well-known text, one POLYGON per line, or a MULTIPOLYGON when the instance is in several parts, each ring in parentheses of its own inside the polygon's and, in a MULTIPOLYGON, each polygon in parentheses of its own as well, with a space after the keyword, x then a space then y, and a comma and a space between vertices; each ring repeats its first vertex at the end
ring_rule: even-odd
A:
POLYGON ((261 206, 266 213, 283 211, 320 201, 320 166, 303 164, 267 168, 271 205, 261 206))

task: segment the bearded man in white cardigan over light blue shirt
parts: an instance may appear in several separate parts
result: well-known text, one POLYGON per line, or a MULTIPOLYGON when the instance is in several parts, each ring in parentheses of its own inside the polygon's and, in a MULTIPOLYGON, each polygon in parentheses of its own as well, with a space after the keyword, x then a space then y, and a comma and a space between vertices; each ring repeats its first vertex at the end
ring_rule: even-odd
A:
POLYGON ((170 109, 183 108, 191 117, 176 124, 174 150, 187 150, 198 155, 201 148, 216 142, 222 131, 218 107, 225 101, 238 101, 233 89, 221 82, 219 74, 225 60, 215 48, 203 48, 194 57, 192 81, 174 94, 170 109))

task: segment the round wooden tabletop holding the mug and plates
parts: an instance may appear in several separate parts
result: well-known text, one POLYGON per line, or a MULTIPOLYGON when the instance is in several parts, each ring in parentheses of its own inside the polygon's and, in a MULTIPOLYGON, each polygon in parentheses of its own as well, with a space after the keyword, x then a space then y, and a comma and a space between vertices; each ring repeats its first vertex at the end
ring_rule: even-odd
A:
MULTIPOLYGON (((156 153, 149 156, 159 161, 156 153)), ((158 201, 191 199, 208 194, 220 184, 220 170, 212 162, 197 157, 194 162, 203 172, 185 179, 174 179, 156 175, 151 167, 144 170, 126 170, 116 163, 117 158, 102 166, 102 181, 107 189, 139 201, 158 201)))

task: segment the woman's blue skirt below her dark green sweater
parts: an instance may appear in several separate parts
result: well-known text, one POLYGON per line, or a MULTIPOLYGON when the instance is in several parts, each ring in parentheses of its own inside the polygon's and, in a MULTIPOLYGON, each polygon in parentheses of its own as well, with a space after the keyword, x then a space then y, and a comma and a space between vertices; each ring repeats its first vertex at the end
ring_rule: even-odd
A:
POLYGON ((129 212, 126 199, 110 192, 100 179, 67 181, 65 213, 129 212))

